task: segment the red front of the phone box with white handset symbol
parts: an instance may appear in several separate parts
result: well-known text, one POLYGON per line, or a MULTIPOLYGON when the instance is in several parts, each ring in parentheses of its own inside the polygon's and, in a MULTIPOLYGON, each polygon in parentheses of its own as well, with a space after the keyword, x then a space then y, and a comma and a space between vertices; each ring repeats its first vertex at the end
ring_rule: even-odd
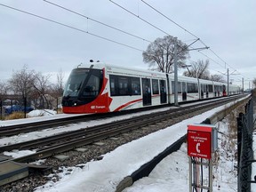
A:
POLYGON ((188 125, 188 156, 211 159, 212 127, 188 125))

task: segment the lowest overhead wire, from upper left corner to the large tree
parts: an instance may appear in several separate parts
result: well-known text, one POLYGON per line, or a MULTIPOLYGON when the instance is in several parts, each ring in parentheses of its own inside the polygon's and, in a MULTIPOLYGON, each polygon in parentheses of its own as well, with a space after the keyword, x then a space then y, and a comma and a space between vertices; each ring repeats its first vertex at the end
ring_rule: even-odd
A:
POLYGON ((6 5, 6 4, 0 4, 0 5, 1 5, 1 6, 4 6, 4 7, 6 7, 6 8, 9 8, 9 9, 15 10, 15 11, 17 11, 17 12, 22 12, 22 13, 28 14, 28 15, 30 15, 30 16, 36 17, 36 18, 41 19, 41 20, 47 20, 47 21, 50 21, 50 22, 52 22, 52 23, 58 24, 58 25, 60 25, 60 26, 63 26, 63 27, 66 27, 66 28, 71 28, 71 29, 74 29, 74 30, 76 30, 76 31, 80 31, 80 32, 82 32, 82 33, 85 33, 85 34, 88 34, 88 35, 95 36, 95 37, 98 37, 98 38, 100 38, 100 39, 106 40, 106 41, 108 41, 108 42, 115 43, 115 44, 119 44, 119 45, 123 45, 123 46, 129 47, 129 48, 131 48, 131 49, 133 49, 133 50, 137 50, 137 51, 143 52, 143 50, 140 50, 139 48, 133 47, 133 46, 128 45, 128 44, 123 44, 123 43, 117 42, 117 41, 115 41, 115 40, 109 39, 109 38, 104 37, 104 36, 99 36, 99 35, 93 34, 93 33, 89 32, 89 31, 85 31, 84 29, 75 28, 75 27, 72 27, 72 26, 70 26, 70 25, 61 23, 61 22, 59 22, 59 21, 51 20, 51 19, 45 18, 45 17, 43 17, 43 16, 34 14, 34 13, 32 13, 32 12, 26 12, 26 11, 20 10, 20 9, 18 9, 18 8, 15 8, 15 7, 6 5))

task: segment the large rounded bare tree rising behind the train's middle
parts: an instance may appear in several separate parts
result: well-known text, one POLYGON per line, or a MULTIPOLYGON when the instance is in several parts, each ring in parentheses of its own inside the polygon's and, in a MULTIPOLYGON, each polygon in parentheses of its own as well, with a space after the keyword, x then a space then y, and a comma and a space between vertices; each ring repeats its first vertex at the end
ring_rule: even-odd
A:
MULTIPOLYGON (((176 39, 173 36, 157 38, 148 45, 147 51, 142 53, 143 61, 149 64, 149 68, 161 72, 170 73, 174 61, 174 44, 176 39)), ((177 40, 177 64, 178 67, 185 65, 188 58, 188 46, 177 40)))

